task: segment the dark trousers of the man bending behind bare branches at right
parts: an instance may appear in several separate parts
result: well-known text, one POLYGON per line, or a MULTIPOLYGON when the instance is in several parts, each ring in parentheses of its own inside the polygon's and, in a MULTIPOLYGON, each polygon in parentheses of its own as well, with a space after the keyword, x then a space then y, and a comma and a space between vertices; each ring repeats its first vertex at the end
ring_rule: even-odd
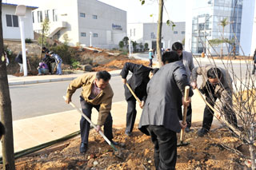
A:
MULTIPOLYGON (((215 87, 211 85, 209 82, 206 83, 207 89, 201 89, 200 91, 202 93, 205 93, 206 95, 206 101, 214 107, 215 101, 217 100, 217 97, 215 97, 214 89, 215 87)), ((232 108, 227 108, 226 106, 222 107, 222 111, 224 112, 226 120, 231 124, 234 125, 234 127, 238 126, 237 117, 235 116, 235 113, 232 108)), ((210 109, 208 105, 206 105, 204 112, 203 112, 203 120, 202 120, 202 128, 205 128, 207 131, 210 130, 210 126, 214 120, 214 111, 210 109)))

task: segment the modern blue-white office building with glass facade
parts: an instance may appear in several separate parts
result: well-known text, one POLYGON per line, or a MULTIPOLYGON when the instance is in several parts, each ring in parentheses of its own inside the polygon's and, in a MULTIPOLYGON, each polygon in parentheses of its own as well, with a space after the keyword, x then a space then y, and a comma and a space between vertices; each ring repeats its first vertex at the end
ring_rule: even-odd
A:
POLYGON ((237 54, 252 54, 255 24, 255 0, 186 0, 185 48, 192 53, 218 55, 231 53, 235 46, 237 54), (230 43, 210 45, 208 40, 214 39, 230 43))

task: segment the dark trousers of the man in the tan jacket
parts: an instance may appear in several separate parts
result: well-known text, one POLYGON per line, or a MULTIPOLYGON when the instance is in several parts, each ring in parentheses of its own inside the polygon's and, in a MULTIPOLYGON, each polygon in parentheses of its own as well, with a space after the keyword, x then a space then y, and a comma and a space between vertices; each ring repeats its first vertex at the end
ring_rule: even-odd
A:
MULTIPOLYGON (((82 107, 82 113, 85 113, 86 117, 89 117, 89 118, 91 117, 91 109, 95 108, 99 110, 99 107, 100 107, 100 105, 90 105, 82 97, 80 97, 80 103, 82 107)), ((106 121, 104 124, 104 135, 109 140, 113 139, 112 124, 113 124, 113 120, 110 113, 109 116, 106 117, 106 121)), ((84 144, 88 144, 90 123, 86 121, 84 117, 81 117, 81 120, 80 120, 80 131, 81 131, 81 142, 84 144)))

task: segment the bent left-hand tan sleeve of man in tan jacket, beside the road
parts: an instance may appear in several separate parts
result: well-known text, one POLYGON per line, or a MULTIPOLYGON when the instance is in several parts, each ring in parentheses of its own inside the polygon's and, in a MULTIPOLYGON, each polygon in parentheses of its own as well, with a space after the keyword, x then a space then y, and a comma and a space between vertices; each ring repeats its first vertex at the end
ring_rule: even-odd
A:
POLYGON ((66 89, 66 98, 71 99, 76 89, 79 89, 80 87, 82 87, 82 85, 86 84, 88 80, 89 80, 89 77, 86 74, 84 74, 80 77, 77 77, 73 81, 71 81, 70 85, 68 85, 66 89))

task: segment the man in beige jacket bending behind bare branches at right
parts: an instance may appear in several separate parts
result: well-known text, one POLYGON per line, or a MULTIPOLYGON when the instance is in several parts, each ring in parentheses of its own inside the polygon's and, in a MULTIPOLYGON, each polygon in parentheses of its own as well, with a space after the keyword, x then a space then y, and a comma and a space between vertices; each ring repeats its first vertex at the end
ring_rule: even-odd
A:
MULTIPOLYGON (((230 74, 225 69, 214 67, 214 65, 196 67, 192 70, 190 84, 193 89, 197 88, 198 75, 202 75, 202 85, 199 90, 206 95, 206 101, 214 107, 218 98, 221 101, 220 108, 226 120, 234 127, 238 127, 237 117, 233 110, 232 79, 230 74)), ((214 111, 206 105, 203 113, 202 128, 198 130, 198 136, 204 136, 210 131, 213 119, 214 111)))

